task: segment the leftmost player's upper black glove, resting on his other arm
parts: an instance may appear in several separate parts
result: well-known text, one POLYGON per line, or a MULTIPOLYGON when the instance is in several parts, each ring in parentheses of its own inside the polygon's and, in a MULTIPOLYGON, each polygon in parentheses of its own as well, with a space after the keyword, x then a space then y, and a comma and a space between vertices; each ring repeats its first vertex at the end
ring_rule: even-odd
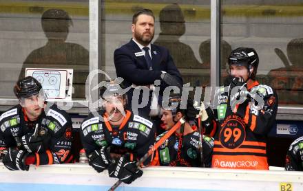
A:
POLYGON ((33 135, 29 133, 21 137, 21 147, 28 150, 28 153, 42 153, 48 149, 50 143, 50 134, 43 130, 44 134, 33 135))

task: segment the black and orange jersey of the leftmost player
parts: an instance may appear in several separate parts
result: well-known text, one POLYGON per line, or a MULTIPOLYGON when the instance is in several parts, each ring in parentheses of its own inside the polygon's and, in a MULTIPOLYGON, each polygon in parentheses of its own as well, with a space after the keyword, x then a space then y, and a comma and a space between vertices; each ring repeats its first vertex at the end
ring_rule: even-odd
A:
POLYGON ((28 120, 20 104, 3 113, 0 116, 0 149, 19 146, 19 149, 28 151, 20 144, 21 137, 33 134, 36 124, 48 135, 43 142, 45 148, 34 153, 36 166, 71 161, 72 120, 56 104, 52 104, 47 111, 42 111, 34 122, 28 120))

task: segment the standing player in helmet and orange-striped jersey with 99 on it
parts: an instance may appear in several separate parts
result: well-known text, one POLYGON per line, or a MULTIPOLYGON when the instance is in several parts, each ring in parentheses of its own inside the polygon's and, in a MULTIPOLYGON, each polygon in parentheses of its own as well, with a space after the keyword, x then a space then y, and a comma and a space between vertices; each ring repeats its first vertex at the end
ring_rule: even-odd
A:
POLYGON ((258 63, 255 49, 233 50, 230 78, 216 92, 213 112, 202 111, 206 133, 215 138, 213 168, 269 169, 265 137, 275 122, 278 97, 255 80, 258 63))

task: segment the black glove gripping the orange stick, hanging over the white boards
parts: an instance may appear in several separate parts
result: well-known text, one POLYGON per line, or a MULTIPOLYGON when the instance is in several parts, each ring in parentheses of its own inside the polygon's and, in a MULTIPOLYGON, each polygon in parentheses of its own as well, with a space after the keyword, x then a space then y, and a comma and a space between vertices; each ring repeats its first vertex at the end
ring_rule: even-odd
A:
POLYGON ((131 160, 131 154, 126 153, 111 164, 108 168, 109 177, 118 178, 124 183, 132 183, 132 181, 143 175, 143 171, 136 166, 136 161, 131 160))

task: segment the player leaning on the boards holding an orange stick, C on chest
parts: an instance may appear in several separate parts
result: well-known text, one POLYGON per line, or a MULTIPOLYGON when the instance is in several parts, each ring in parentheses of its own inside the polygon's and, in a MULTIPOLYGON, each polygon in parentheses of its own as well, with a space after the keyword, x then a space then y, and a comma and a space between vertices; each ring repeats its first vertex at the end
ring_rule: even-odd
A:
POLYGON ((155 127, 146 117, 125 109, 127 95, 120 90, 114 81, 101 87, 101 109, 81 124, 81 140, 92 168, 97 172, 107 169, 109 177, 132 183, 143 174, 136 161, 154 145, 155 127))

